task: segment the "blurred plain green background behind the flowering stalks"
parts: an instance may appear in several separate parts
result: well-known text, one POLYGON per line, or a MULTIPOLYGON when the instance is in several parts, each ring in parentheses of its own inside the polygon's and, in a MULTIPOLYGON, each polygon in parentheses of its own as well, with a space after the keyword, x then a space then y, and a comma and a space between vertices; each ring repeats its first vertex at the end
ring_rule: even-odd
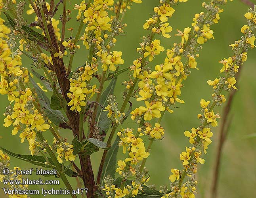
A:
MULTIPOLYGON (((174 42, 179 42, 180 38, 174 36, 176 29, 183 30, 185 27, 191 25, 192 18, 195 13, 204 11, 201 7, 202 0, 189 0, 186 3, 180 3, 174 6, 176 10, 173 17, 169 19, 170 25, 173 27, 171 32, 172 38, 166 39, 160 36, 161 45, 165 49, 171 48, 174 42)), ((80 1, 72 1, 69 5, 69 9, 73 9, 73 5, 80 1)), ((139 55, 136 52, 136 47, 139 47, 141 37, 146 35, 148 32, 143 30, 142 25, 145 20, 153 13, 153 7, 158 5, 158 0, 144 0, 142 4, 134 4, 132 10, 128 11, 124 21, 128 24, 126 28, 127 35, 119 36, 115 50, 122 51, 122 58, 125 60, 122 67, 128 67, 132 64, 132 61, 139 55)), ((60 9, 61 10, 61 9, 60 9)), ((179 160, 180 152, 185 149, 185 145, 188 145, 187 138, 184 137, 183 133, 185 130, 190 130, 192 127, 197 128, 199 121, 197 120, 197 114, 200 110, 200 99, 211 99, 212 88, 206 83, 207 80, 212 80, 219 75, 219 70, 222 67, 219 60, 228 58, 232 55, 232 50, 229 44, 234 43, 235 40, 241 37, 240 29, 246 23, 244 13, 248 11, 248 6, 241 3, 239 0, 234 2, 228 2, 224 6, 224 12, 220 13, 220 21, 218 24, 213 25, 211 29, 214 30, 214 40, 209 40, 203 45, 203 50, 200 51, 200 57, 197 59, 198 67, 200 70, 193 70, 192 75, 184 81, 184 88, 182 89, 182 95, 180 99, 185 101, 185 104, 178 104, 177 108, 174 109, 174 114, 166 114, 162 120, 162 126, 165 128, 165 137, 162 141, 157 141, 153 145, 153 149, 147 160, 147 168, 150 170, 150 184, 156 184, 157 187, 160 185, 170 183, 168 176, 170 175, 171 168, 181 169, 181 161, 179 160)), ((73 11, 73 19, 75 20, 76 11, 73 11)), ((25 16, 25 15, 24 15, 25 16)), ((27 16, 26 16, 27 17, 27 16)), ((29 23, 32 22, 32 17, 29 18, 29 23)), ((59 25, 61 28, 61 25, 59 25)), ((67 23, 67 27, 78 27, 78 23, 73 21, 67 23)), ((70 36, 67 34, 67 37, 70 36)), ((80 43, 82 46, 82 42, 80 43)), ((228 198, 241 198, 241 197, 254 197, 256 187, 256 52, 250 50, 248 53, 248 60, 243 66, 241 80, 239 82, 239 90, 237 91, 232 105, 231 115, 233 120, 229 130, 227 141, 224 145, 221 169, 220 169, 220 180, 218 188, 218 197, 228 198), (248 137, 248 135, 254 134, 254 137, 248 137)), ((84 57, 87 55, 87 51, 81 48, 75 56, 74 68, 82 65, 85 62, 84 57)), ((165 58, 165 52, 161 53, 156 59, 149 64, 151 68, 155 65, 163 62, 165 58)), ((67 59, 65 59, 67 63, 67 59)), ((32 67, 32 62, 23 56, 23 66, 32 67)), ((121 82, 128 80, 127 74, 120 76, 115 95, 117 100, 121 101, 121 94, 124 87, 121 82)), ((225 93, 227 96, 228 94, 225 93)), ((1 114, 0 114, 0 145, 13 152, 21 154, 30 154, 28 150, 28 144, 23 143, 21 145, 20 138, 18 135, 11 135, 11 127, 4 128, 4 108, 8 105, 6 96, 0 96, 1 100, 1 114)), ((121 102, 119 102, 121 103, 121 102)), ((143 102, 134 103, 136 105, 142 105, 143 102)), ((215 113, 219 112, 222 114, 221 108, 216 108, 215 113)), ((221 121, 219 121, 220 126, 221 121)), ((136 127, 132 120, 128 119, 125 127, 133 128, 136 127)), ((210 186, 212 184, 212 170, 213 164, 216 158, 216 146, 218 139, 219 127, 213 128, 214 137, 212 137, 213 143, 209 146, 205 158, 205 164, 198 166, 197 171, 197 198, 208 198, 210 196, 210 186)), ((47 132, 46 132, 47 133, 47 132)), ((46 134, 45 133, 45 134, 46 134)), ((68 130, 61 132, 63 137, 69 137, 69 142, 72 140, 72 134, 68 130)), ((49 141, 52 139, 48 135, 49 141)), ((101 152, 94 153, 92 155, 92 164, 95 173, 99 165, 101 158, 101 152)), ((121 153, 118 159, 124 159, 126 155, 121 153)), ((15 158, 11 158, 11 167, 19 166, 22 169, 29 169, 31 164, 27 164, 23 161, 19 161, 15 158)), ((36 175, 29 177, 30 179, 37 178, 36 175)), ((49 179, 49 178, 47 178, 49 179)), ((54 178, 53 178, 54 179, 54 178)), ((76 186, 75 179, 70 179, 73 187, 76 186)), ((63 187, 60 186, 48 186, 45 188, 58 189, 63 187)), ((0 188, 3 188, 0 184, 0 188)), ((40 189, 38 186, 30 186, 31 189, 40 189)), ((57 196, 56 197, 63 197, 57 196)), ((3 190, 0 190, 0 197, 6 197, 3 194, 3 190)), ((41 198, 42 195, 34 195, 31 197, 41 198)), ((48 196, 47 196, 48 197, 48 196)), ((49 196, 50 197, 50 196, 49 196)), ((68 197, 68 196, 65 196, 68 197)))

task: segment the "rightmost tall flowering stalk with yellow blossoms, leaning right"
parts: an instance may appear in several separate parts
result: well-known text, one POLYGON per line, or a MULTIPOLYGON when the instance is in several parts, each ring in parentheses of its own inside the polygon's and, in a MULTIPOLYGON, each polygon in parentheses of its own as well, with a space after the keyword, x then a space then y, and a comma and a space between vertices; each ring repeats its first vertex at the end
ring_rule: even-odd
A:
MULTIPOLYGON (((220 73, 224 73, 224 76, 216 78, 215 80, 208 80, 208 84, 213 86, 214 93, 212 94, 212 102, 201 99, 201 112, 197 117, 201 121, 201 125, 198 128, 192 128, 192 132, 185 131, 185 136, 189 137, 190 147, 186 147, 186 151, 181 152, 180 160, 183 162, 184 169, 176 170, 174 177, 174 169, 172 169, 173 175, 170 175, 169 179, 172 182, 171 192, 168 193, 169 197, 176 197, 180 194, 181 197, 195 197, 195 185, 197 181, 193 177, 189 177, 185 183, 183 183, 186 175, 190 176, 197 172, 197 163, 204 164, 204 159, 200 158, 202 152, 201 148, 206 153, 208 145, 212 143, 211 137, 213 133, 210 131, 209 126, 215 127, 218 125, 216 118, 220 118, 219 114, 214 114, 213 109, 215 106, 221 106, 225 102, 225 96, 222 95, 222 91, 230 91, 231 89, 237 89, 235 84, 235 74, 247 60, 247 51, 249 48, 254 48, 254 34, 252 33, 256 29, 254 22, 255 9, 250 9, 245 14, 248 19, 248 25, 241 29, 244 34, 240 40, 235 44, 231 44, 234 55, 228 59, 219 61, 223 64, 220 73), (201 147, 201 148, 200 148, 201 147), (179 191, 178 191, 179 190, 179 191)), ((164 196, 163 196, 164 197, 164 196)))

